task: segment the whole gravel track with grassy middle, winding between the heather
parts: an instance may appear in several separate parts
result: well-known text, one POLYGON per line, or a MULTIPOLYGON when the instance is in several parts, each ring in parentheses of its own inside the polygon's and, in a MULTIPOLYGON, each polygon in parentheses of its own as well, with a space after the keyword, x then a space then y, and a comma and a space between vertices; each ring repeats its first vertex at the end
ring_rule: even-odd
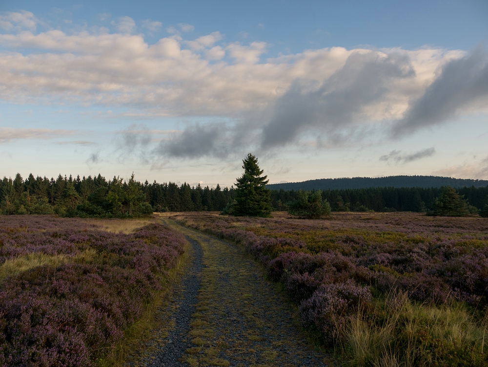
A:
POLYGON ((167 329, 154 334, 136 365, 335 365, 305 342, 290 304, 241 248, 167 223, 188 238, 193 261, 161 310, 167 329))

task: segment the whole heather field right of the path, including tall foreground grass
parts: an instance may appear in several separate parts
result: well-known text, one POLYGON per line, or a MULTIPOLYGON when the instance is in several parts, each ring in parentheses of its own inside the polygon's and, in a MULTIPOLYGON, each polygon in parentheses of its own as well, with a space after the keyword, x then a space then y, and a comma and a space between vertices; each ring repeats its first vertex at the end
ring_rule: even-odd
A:
POLYGON ((323 220, 182 214, 235 241, 351 366, 488 366, 488 220, 334 213, 323 220))

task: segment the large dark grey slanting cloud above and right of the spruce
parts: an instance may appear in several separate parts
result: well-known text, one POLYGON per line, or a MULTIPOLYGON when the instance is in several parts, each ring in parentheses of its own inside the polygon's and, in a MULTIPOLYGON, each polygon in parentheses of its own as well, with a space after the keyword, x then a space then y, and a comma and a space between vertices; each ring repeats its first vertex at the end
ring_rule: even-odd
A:
POLYGON ((330 133, 367 119, 365 108, 382 100, 393 80, 414 75, 407 56, 355 52, 322 85, 302 80, 292 84, 264 127, 263 147, 289 143, 309 128, 330 133))

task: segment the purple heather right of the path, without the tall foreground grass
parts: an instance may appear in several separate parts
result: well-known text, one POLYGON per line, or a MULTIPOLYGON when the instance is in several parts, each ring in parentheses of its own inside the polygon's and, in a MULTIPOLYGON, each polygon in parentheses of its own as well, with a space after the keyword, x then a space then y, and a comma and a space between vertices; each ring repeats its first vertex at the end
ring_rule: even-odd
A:
POLYGON ((432 306, 488 306, 488 223, 415 214, 338 215, 327 221, 181 216, 231 239, 281 281, 301 320, 333 345, 376 298, 405 292, 432 306))

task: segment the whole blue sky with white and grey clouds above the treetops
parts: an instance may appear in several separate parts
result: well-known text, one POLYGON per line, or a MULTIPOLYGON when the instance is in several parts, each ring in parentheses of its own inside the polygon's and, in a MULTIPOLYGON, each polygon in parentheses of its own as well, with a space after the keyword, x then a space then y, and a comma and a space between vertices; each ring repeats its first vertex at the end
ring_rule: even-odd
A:
POLYGON ((488 1, 0 0, 0 176, 488 179, 488 1))

